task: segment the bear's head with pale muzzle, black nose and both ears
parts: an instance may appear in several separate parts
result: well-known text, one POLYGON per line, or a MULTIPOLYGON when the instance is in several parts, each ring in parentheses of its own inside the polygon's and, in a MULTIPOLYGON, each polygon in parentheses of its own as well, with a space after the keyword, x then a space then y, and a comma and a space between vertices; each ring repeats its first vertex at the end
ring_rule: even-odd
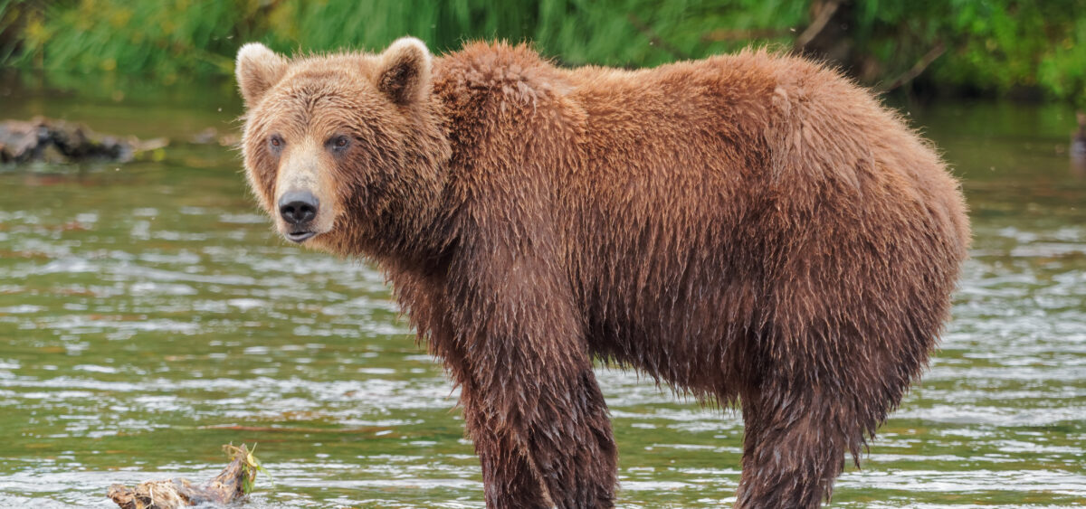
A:
POLYGON ((245 170, 283 237, 343 255, 421 237, 450 157, 431 67, 415 38, 380 54, 238 51, 245 170))

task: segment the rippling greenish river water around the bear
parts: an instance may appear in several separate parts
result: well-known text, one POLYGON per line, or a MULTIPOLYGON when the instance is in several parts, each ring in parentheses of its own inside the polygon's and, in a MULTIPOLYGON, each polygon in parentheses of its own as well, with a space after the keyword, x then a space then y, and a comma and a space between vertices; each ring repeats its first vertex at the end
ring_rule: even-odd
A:
MULTIPOLYGON (((34 104, 0 116, 60 115, 34 104)), ((71 116, 140 136, 236 113, 87 107, 71 116)), ((1059 151, 1068 113, 918 116, 964 177, 973 259, 931 371, 834 506, 1086 502, 1086 182, 1059 151)), ((381 276, 286 245, 239 170, 217 147, 0 168, 0 507, 110 507, 112 483, 212 476, 228 442, 258 443, 275 475, 253 507, 481 507, 456 393, 381 276)), ((734 412, 597 376, 622 507, 733 500, 734 412)))

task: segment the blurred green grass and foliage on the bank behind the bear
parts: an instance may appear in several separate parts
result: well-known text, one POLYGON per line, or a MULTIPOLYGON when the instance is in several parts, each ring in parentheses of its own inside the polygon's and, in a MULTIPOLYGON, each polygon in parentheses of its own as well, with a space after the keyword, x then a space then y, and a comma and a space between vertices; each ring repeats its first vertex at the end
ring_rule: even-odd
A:
POLYGON ((253 40, 295 52, 413 35, 437 52, 528 40, 569 65, 769 44, 895 93, 1086 103, 1084 0, 0 0, 0 64, 61 87, 228 77, 253 40))

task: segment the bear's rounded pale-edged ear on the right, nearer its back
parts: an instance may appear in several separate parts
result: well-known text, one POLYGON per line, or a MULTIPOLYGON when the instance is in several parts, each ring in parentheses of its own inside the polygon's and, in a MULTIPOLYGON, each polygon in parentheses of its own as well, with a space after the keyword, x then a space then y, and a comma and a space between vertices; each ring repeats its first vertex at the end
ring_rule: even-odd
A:
POLYGON ((396 39, 381 53, 377 88, 396 104, 409 104, 430 93, 430 50, 414 38, 396 39))

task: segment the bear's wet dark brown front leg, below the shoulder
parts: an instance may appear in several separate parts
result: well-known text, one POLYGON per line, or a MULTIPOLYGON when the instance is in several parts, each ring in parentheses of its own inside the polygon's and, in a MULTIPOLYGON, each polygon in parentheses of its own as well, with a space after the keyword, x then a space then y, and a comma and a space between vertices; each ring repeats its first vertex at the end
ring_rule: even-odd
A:
POLYGON ((517 272, 452 301, 446 362, 487 507, 613 507, 617 450, 572 300, 557 279, 517 272))

